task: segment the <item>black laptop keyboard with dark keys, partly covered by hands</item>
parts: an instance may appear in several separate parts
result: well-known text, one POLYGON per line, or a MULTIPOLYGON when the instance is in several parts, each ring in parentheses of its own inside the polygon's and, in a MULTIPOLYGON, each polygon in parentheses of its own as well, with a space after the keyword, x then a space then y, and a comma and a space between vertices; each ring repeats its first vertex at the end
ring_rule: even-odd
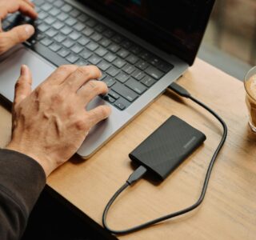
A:
POLYGON ((174 67, 64 1, 34 3, 36 21, 10 14, 2 29, 30 23, 36 33, 26 46, 55 66, 98 66, 102 70, 99 80, 110 88, 102 98, 119 110, 125 110, 174 67))

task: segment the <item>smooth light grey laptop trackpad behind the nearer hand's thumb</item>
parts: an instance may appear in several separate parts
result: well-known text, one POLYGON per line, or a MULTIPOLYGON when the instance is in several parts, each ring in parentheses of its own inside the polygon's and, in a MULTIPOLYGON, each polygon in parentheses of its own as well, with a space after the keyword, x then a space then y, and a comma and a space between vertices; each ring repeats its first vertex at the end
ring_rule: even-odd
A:
POLYGON ((0 94, 10 100, 10 102, 14 101, 14 86, 20 75, 22 64, 30 67, 33 76, 33 89, 48 78, 56 69, 50 63, 38 57, 37 54, 25 48, 11 54, 9 58, 0 62, 0 94))

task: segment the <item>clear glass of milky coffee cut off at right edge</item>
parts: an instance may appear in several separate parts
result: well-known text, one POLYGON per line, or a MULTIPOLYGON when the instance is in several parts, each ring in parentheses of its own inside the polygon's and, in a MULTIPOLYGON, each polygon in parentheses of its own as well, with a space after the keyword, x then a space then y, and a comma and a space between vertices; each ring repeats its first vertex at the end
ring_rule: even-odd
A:
POLYGON ((256 134, 256 66, 246 74, 244 86, 246 88, 246 105, 249 110, 249 125, 256 134))

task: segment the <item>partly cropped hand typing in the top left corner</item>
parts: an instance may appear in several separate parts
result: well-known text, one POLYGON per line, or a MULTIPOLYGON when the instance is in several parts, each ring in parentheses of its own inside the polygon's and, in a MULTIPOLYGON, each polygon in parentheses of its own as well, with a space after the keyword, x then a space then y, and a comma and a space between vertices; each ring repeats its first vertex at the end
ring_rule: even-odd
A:
POLYGON ((17 11, 30 18, 38 17, 34 10, 34 3, 29 0, 0 0, 0 55, 16 44, 25 42, 34 34, 34 26, 29 24, 16 26, 8 32, 2 31, 1 21, 6 18, 7 14, 17 11))

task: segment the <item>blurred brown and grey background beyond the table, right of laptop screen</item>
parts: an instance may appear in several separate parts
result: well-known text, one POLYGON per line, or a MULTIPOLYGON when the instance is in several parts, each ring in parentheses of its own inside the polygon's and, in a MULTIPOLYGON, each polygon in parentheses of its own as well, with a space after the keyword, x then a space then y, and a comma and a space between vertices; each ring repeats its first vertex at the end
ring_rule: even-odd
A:
POLYGON ((216 0, 198 57, 242 80, 256 66, 256 0, 216 0))

